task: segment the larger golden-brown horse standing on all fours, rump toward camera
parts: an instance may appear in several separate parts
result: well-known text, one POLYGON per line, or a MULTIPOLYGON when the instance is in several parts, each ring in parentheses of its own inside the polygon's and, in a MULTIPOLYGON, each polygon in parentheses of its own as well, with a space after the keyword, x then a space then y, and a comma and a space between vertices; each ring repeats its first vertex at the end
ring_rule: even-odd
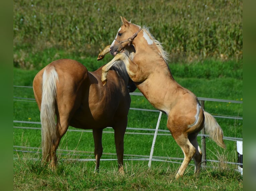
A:
MULTIPOLYGON (((102 67, 101 67, 102 68, 102 67)), ((61 59, 43 68, 35 76, 33 91, 42 123, 42 163, 56 168, 56 149, 69 125, 93 129, 96 167, 102 156, 102 131, 114 129, 118 171, 123 170, 124 133, 131 98, 136 89, 122 61, 109 73, 109 83, 101 83, 102 69, 88 72, 75 60, 61 59), (56 122, 55 122, 56 115, 56 122)))

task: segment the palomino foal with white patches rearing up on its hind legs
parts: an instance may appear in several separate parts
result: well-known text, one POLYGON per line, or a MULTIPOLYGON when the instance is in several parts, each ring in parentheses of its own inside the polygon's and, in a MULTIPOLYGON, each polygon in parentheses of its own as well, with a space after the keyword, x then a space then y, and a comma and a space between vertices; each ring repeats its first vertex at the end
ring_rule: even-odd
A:
POLYGON ((184 154, 175 177, 183 175, 192 158, 195 161, 195 172, 200 172, 202 151, 197 135, 205 127, 210 137, 225 148, 221 127, 211 114, 203 110, 197 97, 173 79, 166 63, 166 52, 147 28, 141 28, 122 17, 121 20, 123 25, 110 47, 110 53, 115 57, 102 68, 103 84, 108 84, 106 77, 109 69, 122 60, 140 92, 155 108, 168 116, 167 128, 184 154), (135 48, 132 60, 125 53, 130 45, 135 48), (120 51, 124 52, 117 54, 120 51))

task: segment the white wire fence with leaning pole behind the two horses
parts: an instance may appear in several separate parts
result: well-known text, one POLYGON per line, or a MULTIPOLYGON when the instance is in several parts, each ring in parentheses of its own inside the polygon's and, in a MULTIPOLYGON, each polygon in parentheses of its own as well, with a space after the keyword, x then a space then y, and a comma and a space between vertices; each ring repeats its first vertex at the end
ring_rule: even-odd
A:
MULTIPOLYGON (((18 87, 18 88, 32 88, 28 86, 13 86, 13 87, 18 87)), ((137 95, 137 96, 143 96, 141 93, 130 93, 130 95, 137 95)), ((199 100, 202 101, 218 101, 218 102, 228 102, 228 103, 240 103, 242 104, 243 101, 238 101, 238 100, 227 100, 227 99, 216 99, 216 98, 206 98, 206 97, 198 97, 199 100)), ((13 97, 13 101, 25 101, 25 102, 35 102, 34 98, 27 98, 27 97, 13 97)), ((131 110, 140 110, 140 111, 149 111, 149 112, 161 112, 159 110, 154 110, 154 109, 143 109, 143 108, 132 108, 130 107, 131 110)), ((159 117, 160 117, 159 114, 159 117)), ((219 117, 219 118, 227 118, 227 119, 235 119, 235 120, 243 120, 243 117, 240 116, 230 116, 230 115, 213 115, 214 117, 219 117)), ((158 118, 159 122, 160 119, 158 118)), ((41 122, 37 121, 20 121, 20 120, 13 120, 13 123, 22 123, 22 124, 41 124, 41 122)), ((159 124, 158 124, 159 125, 159 124)), ((41 130, 41 127, 26 127, 26 126, 13 126, 13 128, 17 129, 30 129, 30 130, 41 130)), ((106 129, 109 130, 104 130, 103 133, 114 133, 112 127, 107 127, 106 129)), ((169 130, 163 130, 163 129, 151 129, 151 128, 133 128, 133 127, 127 127, 127 130, 140 130, 140 131, 154 131, 152 133, 149 132, 126 132, 126 134, 139 134, 139 135, 155 135, 156 133, 159 136, 171 136, 169 130), (161 132, 161 133, 158 133, 161 132)), ((73 132, 92 132, 92 130, 80 130, 80 129, 68 129, 68 131, 73 131, 73 132)), ((198 134, 198 136, 204 136, 204 137, 209 137, 207 134, 198 134)), ((224 140, 229 140, 229 141, 243 141, 243 138, 238 138, 238 137, 228 137, 224 136, 224 140)), ((153 140, 154 141, 154 140, 153 140)), ((153 142, 154 144, 154 142, 153 142)), ((152 149, 154 149, 154 146, 152 144, 151 152, 152 149)), ((28 147, 28 146, 21 146, 21 145, 13 145, 13 151, 14 152, 22 152, 22 153, 41 153, 41 148, 40 147, 28 147)), ((81 151, 81 150, 67 150, 67 149, 57 149, 57 154, 58 155, 71 155, 71 156, 78 156, 80 158, 70 158, 70 159, 65 159, 65 160, 77 160, 77 161, 95 161, 94 158, 94 152, 92 151, 81 151), (85 157, 85 158, 81 158, 85 157)), ((17 157, 14 157, 13 159, 17 159, 17 157)), ((33 160, 38 160, 38 158, 31 158, 33 160)), ((116 159, 116 153, 103 153, 101 160, 117 160, 116 159)), ((136 154, 124 154, 124 160, 144 160, 144 161, 159 161, 159 162, 172 162, 172 163, 179 163, 181 164, 183 158, 178 158, 178 157, 164 157, 164 156, 153 156, 153 152, 150 153, 150 155, 136 155, 136 154), (180 162, 177 162, 180 161, 180 162)), ((220 162, 218 160, 210 160, 207 159, 209 162, 220 162)), ((150 163, 149 162, 149 163, 150 163)), ((236 165, 242 165, 242 163, 238 162, 229 162, 229 161, 221 161, 227 164, 236 164, 236 165)), ((150 165, 149 165, 150 167, 150 165)))

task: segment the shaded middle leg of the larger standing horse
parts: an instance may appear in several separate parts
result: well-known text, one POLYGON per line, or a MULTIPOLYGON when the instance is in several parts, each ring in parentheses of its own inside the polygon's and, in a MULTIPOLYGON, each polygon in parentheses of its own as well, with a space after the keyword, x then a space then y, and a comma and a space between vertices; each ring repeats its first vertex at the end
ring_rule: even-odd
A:
POLYGON ((93 129, 93 138, 94 138, 94 156, 96 159, 96 166, 94 172, 99 172, 100 159, 103 152, 102 147, 102 131, 103 129, 93 129))

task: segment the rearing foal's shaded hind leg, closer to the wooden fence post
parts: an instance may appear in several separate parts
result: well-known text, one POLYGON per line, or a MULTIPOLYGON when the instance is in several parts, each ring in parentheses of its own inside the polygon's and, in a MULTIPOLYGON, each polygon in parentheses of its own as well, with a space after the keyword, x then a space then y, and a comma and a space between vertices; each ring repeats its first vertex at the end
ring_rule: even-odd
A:
POLYGON ((193 133, 188 135, 188 139, 191 144, 196 148, 196 153, 193 156, 193 160, 195 162, 195 173, 200 173, 201 170, 201 162, 202 162, 202 151, 197 142, 198 133, 193 133))

